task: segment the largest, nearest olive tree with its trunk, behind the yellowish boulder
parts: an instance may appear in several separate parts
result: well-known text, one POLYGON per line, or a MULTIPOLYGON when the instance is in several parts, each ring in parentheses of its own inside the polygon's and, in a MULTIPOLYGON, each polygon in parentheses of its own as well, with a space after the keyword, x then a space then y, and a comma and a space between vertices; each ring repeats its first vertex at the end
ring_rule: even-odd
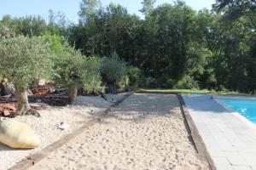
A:
POLYGON ((39 116, 28 104, 26 89, 34 78, 49 79, 53 72, 50 43, 44 37, 10 37, 0 41, 0 70, 15 85, 17 115, 39 116))

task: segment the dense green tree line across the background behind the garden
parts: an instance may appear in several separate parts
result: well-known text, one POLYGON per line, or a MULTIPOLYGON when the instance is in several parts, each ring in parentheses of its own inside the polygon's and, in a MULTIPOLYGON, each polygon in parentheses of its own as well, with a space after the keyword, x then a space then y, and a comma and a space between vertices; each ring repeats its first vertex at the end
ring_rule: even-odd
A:
MULTIPOLYGON (((154 0, 142 4, 143 19, 119 4, 102 7, 99 0, 82 0, 79 24, 52 11, 48 23, 4 16, 0 35, 58 35, 86 56, 116 54, 133 65, 126 73, 143 87, 256 90, 254 0, 217 0, 212 11, 199 12, 181 1, 156 8, 154 0)), ((122 82, 124 77, 117 83, 122 82)))

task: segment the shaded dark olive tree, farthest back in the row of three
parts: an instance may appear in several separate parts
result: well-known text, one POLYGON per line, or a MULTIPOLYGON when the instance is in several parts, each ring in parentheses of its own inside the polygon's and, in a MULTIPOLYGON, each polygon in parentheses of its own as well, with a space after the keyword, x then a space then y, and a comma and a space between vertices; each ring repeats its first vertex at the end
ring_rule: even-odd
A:
POLYGON ((101 72, 103 81, 108 83, 108 90, 112 94, 117 94, 116 82, 127 74, 125 62, 119 59, 116 53, 113 53, 110 57, 103 57, 101 72))

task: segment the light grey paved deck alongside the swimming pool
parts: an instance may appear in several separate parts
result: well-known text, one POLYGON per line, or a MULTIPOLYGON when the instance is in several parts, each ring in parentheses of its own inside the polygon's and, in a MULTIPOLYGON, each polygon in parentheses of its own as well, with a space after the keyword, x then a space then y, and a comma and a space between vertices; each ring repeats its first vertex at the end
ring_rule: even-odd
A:
POLYGON ((256 170, 256 130, 209 95, 183 95, 218 170, 256 170))

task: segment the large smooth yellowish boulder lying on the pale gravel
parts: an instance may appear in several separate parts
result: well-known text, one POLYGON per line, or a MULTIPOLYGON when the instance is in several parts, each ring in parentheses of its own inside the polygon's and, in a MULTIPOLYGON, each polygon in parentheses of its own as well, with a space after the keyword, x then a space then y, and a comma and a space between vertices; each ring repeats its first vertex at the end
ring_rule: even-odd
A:
POLYGON ((36 148, 40 144, 31 127, 12 119, 0 121, 0 142, 21 149, 36 148))

